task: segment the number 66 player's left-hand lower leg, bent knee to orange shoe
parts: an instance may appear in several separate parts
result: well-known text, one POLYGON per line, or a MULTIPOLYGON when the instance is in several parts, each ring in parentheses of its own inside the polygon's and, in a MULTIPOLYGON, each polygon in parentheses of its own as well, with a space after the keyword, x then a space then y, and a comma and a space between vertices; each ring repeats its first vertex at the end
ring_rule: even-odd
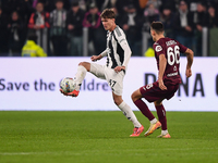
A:
POLYGON ((135 103, 135 105, 140 109, 140 111, 143 113, 143 115, 145 115, 150 122, 150 127, 145 133, 145 136, 148 136, 153 134, 156 129, 160 128, 161 123, 153 115, 147 104, 142 100, 142 93, 140 89, 137 89, 132 93, 132 100, 135 103))

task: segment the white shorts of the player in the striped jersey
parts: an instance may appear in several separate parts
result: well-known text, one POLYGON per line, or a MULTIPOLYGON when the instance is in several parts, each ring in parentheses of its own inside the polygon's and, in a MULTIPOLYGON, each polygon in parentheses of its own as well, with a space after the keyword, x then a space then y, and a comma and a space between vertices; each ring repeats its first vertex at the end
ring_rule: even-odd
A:
POLYGON ((98 78, 106 79, 112 91, 117 96, 122 96, 123 77, 125 75, 123 71, 116 73, 113 68, 109 68, 106 65, 90 63, 90 73, 98 78))

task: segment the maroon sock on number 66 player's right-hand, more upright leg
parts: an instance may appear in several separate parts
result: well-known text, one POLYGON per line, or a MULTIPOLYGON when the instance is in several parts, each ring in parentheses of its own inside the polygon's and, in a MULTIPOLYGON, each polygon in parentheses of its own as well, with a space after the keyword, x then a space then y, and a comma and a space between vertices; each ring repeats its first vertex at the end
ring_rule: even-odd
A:
POLYGON ((161 123, 161 128, 162 130, 166 130, 167 129, 166 110, 162 104, 156 105, 155 108, 157 110, 157 116, 159 118, 159 122, 161 123))

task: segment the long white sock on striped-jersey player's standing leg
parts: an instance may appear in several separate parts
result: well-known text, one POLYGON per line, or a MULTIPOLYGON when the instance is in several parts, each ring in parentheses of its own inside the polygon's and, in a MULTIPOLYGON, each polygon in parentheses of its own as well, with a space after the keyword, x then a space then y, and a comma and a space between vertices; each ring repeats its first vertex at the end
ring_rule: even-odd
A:
POLYGON ((124 101, 120 105, 118 105, 118 108, 123 112, 128 120, 132 121, 134 127, 140 128, 142 126, 131 108, 124 101))

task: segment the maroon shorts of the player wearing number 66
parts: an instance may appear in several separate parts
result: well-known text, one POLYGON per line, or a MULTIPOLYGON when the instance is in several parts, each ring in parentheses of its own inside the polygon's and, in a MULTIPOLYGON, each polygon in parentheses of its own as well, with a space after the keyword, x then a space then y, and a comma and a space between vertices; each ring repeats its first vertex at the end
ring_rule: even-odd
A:
POLYGON ((148 102, 154 102, 159 99, 171 99, 174 96, 174 92, 179 88, 179 84, 171 85, 171 84, 165 84, 167 87, 167 90, 161 90, 159 88, 158 82, 155 82, 153 84, 145 85, 140 88, 140 91, 148 102))

